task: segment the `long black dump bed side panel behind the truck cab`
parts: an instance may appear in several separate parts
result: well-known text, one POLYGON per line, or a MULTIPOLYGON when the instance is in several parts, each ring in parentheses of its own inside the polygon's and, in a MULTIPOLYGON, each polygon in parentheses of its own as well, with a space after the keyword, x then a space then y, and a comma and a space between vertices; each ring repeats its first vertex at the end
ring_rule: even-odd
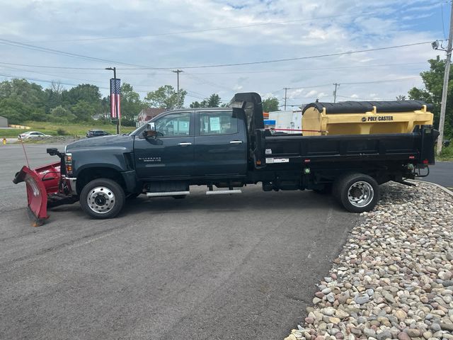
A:
POLYGON ((257 136, 256 159, 270 166, 354 160, 434 164, 437 133, 427 126, 412 133, 384 135, 270 135, 257 130, 257 136))

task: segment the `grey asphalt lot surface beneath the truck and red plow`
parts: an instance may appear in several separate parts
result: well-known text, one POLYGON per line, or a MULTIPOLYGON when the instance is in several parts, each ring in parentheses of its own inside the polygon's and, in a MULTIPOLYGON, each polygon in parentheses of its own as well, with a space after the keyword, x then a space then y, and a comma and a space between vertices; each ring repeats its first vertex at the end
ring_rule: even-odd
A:
MULTIPOLYGON (((55 145, 52 145, 55 146, 55 145)), ((30 165, 50 163, 28 145, 30 165)), ((79 203, 30 227, 21 145, 0 148, 0 339, 282 339, 357 215, 310 191, 79 203)))

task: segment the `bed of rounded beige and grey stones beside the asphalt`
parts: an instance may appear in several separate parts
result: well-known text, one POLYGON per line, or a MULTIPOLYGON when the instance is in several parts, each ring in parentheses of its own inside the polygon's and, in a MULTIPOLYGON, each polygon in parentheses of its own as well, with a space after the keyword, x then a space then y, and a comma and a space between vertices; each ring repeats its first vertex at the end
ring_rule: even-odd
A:
POLYGON ((382 186, 285 340, 453 340, 453 198, 382 186))

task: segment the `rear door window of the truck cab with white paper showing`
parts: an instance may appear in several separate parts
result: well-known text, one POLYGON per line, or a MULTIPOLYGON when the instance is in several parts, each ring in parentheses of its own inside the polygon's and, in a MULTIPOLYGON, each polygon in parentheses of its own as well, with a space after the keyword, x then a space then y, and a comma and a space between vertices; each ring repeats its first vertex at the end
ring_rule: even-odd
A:
POLYGON ((233 112, 200 112, 200 136, 231 135, 237 132, 238 120, 233 112))

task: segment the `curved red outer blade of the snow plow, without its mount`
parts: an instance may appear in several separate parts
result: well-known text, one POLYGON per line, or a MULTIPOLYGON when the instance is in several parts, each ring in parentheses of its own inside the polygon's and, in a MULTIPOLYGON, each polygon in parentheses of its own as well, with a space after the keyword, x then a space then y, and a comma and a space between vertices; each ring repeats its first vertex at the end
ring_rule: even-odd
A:
POLYGON ((47 220, 47 191, 35 171, 23 166, 13 179, 13 183, 25 182, 27 188, 28 215, 33 227, 40 227, 47 220))

